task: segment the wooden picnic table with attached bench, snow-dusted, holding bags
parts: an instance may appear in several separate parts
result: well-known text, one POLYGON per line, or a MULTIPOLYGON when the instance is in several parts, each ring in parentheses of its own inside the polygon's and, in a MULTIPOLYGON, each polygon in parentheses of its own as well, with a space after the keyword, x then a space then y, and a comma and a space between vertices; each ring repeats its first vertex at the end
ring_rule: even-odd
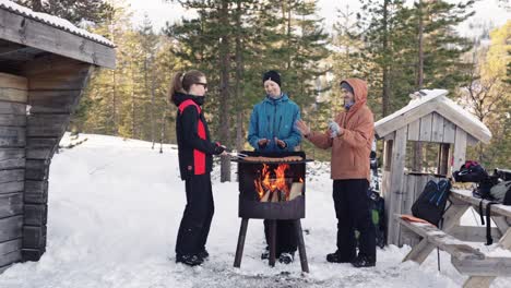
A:
MULTIPOLYGON (((438 247, 451 255, 451 263, 461 274, 468 275, 463 287, 489 287, 496 277, 511 276, 511 253, 509 256, 508 253, 485 254, 471 245, 471 242, 486 242, 486 237, 483 237, 486 235, 485 227, 460 226, 460 218, 470 207, 479 211, 482 200, 474 197, 472 191, 452 189, 450 201, 452 205, 444 214, 441 230, 433 225, 409 221, 401 215, 395 215, 403 227, 421 237, 420 242, 413 247, 403 262, 414 261, 421 264, 438 247)), ((483 200, 484 208, 487 202, 483 200)), ((492 205, 491 219, 497 225, 491 231, 494 237, 499 239, 497 249, 511 252, 511 206, 492 205)))

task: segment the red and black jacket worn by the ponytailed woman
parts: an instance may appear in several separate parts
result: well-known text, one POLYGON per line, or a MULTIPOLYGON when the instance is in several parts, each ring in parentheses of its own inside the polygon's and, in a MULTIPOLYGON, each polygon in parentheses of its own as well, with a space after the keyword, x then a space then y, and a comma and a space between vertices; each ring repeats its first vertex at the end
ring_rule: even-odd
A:
POLYGON ((203 97, 177 93, 173 101, 178 107, 176 134, 181 179, 211 172, 212 155, 218 155, 224 149, 218 143, 211 142, 207 123, 200 107, 203 97))

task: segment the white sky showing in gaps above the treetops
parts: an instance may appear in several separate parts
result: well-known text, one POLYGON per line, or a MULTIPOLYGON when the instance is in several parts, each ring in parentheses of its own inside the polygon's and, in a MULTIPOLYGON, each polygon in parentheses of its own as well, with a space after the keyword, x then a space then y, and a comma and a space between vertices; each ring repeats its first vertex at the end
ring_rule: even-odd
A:
MULTIPOLYGON (((448 0, 449 2, 459 2, 459 0, 448 0)), ((144 14, 146 13, 155 28, 159 29, 165 26, 167 21, 175 22, 181 16, 187 15, 187 12, 176 3, 168 3, 164 0, 128 0, 133 10, 133 22, 141 23, 144 14)), ((413 2, 409 0, 409 2, 413 2)), ((500 26, 506 23, 507 20, 511 20, 511 11, 506 11, 503 8, 499 8, 497 4, 498 0, 479 0, 474 9, 476 14, 468 20, 468 22, 483 20, 484 22, 492 22, 496 26, 500 26)), ((337 9, 349 5, 352 10, 358 10, 360 8, 360 1, 358 0, 319 0, 318 14, 325 19, 325 28, 331 29, 332 24, 336 19, 337 9)), ((460 27, 462 34, 468 34, 468 23, 462 24, 460 27)))

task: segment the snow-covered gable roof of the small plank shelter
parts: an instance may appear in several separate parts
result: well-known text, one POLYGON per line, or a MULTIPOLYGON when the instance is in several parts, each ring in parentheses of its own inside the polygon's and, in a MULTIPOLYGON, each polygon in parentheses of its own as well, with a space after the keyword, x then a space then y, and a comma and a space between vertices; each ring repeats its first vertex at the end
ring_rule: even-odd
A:
MULTIPOLYGON (((426 123, 428 125, 432 125, 433 133, 437 132, 440 135, 426 135, 426 137, 418 135, 418 139, 416 140, 450 143, 452 141, 444 141, 441 137, 443 131, 441 132, 439 130, 443 130, 447 127, 447 122, 451 122, 457 128, 463 129, 470 136, 472 136, 472 142, 476 140, 488 143, 491 139, 491 132, 489 129, 471 112, 449 99, 447 95, 448 91, 445 89, 421 89, 420 92, 411 95, 412 100, 408 105, 375 123, 377 136, 379 139, 383 139, 403 127, 412 125, 414 123, 417 125, 424 125, 426 123), (420 121, 421 118, 429 115, 433 115, 430 121, 420 121), (437 118, 443 118, 442 128, 435 128, 435 119, 437 118)), ((417 127, 416 130, 419 131, 424 129, 417 127)), ((427 131, 431 131, 431 129, 427 131)))

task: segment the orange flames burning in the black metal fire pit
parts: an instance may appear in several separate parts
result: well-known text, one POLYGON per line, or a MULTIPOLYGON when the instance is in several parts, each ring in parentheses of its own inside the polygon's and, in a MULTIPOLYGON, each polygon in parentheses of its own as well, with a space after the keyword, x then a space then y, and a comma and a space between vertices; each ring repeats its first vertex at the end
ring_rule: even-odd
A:
POLYGON ((281 164, 276 169, 273 169, 273 171, 270 169, 269 165, 263 164, 260 178, 253 181, 259 200, 266 193, 270 193, 268 197, 270 201, 271 195, 278 192, 285 193, 286 200, 289 197, 289 187, 285 178, 287 169, 289 169, 288 164, 281 164), (274 177, 272 177, 272 172, 274 177))

